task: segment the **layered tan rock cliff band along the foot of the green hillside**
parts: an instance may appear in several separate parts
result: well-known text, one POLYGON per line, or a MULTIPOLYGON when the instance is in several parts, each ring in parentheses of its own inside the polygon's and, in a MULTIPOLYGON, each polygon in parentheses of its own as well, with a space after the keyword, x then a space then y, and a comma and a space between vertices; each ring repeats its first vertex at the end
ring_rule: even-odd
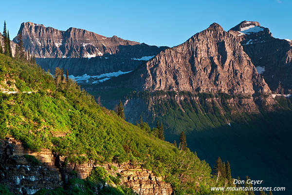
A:
MULTIPOLYGON (((121 184, 132 188, 138 195, 172 193, 170 184, 165 183, 162 177, 128 163, 97 165, 90 161, 65 165, 64 161, 65 157, 54 156, 49 150, 38 153, 29 151, 14 138, 0 140, 0 184, 6 185, 16 194, 31 195, 43 188, 62 187, 73 176, 72 171, 77 173, 78 178, 84 179, 94 167, 102 166, 112 176, 120 174, 121 184), (112 166, 117 169, 111 169, 112 166)), ((98 191, 96 193, 98 194, 98 191)))

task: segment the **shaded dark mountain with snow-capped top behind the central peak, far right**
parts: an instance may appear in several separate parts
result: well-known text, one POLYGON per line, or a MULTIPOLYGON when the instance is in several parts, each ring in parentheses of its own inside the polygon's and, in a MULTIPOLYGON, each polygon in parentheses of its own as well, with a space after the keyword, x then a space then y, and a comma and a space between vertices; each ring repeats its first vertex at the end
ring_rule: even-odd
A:
POLYGON ((276 39, 256 21, 242 21, 228 32, 239 39, 271 90, 292 93, 292 41, 276 39))

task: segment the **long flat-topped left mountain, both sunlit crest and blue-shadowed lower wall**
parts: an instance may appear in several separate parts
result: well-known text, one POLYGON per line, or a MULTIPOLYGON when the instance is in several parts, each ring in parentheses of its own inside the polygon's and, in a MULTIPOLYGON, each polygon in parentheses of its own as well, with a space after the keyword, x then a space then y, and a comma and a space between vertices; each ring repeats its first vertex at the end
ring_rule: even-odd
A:
MULTIPOLYGON (((132 71, 167 48, 116 36, 104 37, 77 28, 59 31, 32 22, 22 23, 19 33, 22 34, 25 50, 30 50, 31 54, 36 56, 37 63, 43 69, 50 69, 50 72, 54 73, 55 67, 59 67, 64 71, 68 70, 73 76, 99 76, 118 71, 132 71)), ((13 40, 18 42, 16 38, 13 40)), ((88 81, 83 80, 84 83, 88 81)), ((98 82, 94 77, 91 82, 93 81, 98 82)))

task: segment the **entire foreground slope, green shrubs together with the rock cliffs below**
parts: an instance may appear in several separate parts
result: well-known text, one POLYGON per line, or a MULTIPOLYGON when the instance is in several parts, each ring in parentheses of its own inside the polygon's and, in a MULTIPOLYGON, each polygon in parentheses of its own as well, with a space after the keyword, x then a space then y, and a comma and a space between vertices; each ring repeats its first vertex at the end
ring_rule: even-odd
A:
MULTIPOLYGON (((136 167, 136 174, 141 169, 148 170, 147 173, 151 171, 153 174, 146 179, 149 179, 150 184, 159 184, 156 188, 152 186, 152 190, 157 190, 158 194, 216 194, 211 192, 211 186, 230 183, 226 182, 225 176, 216 182, 209 165, 196 154, 151 136, 114 112, 100 107, 92 96, 62 75, 55 75, 54 79, 37 65, 0 54, 0 88, 0 192, 4 194, 7 188, 16 194, 33 194, 40 189, 39 186, 58 180, 57 170, 64 180, 55 184, 54 187, 59 185, 61 188, 52 193, 138 193, 122 185, 136 189, 124 182, 123 172, 115 173, 119 168, 113 165, 123 163, 136 167), (18 156, 19 151, 47 156, 51 154, 51 158, 55 159, 51 166, 57 167, 44 170, 56 172, 55 177, 52 180, 41 180, 38 175, 27 177, 31 169, 37 174, 49 165, 44 164, 37 155, 18 156), (106 163, 112 165, 111 172, 101 168, 106 163), (78 179, 81 173, 78 167, 81 165, 87 165, 87 169, 91 167, 87 178, 83 180, 78 179), (66 172, 67 166, 73 167, 70 173, 66 172), (6 167, 9 167, 9 172, 5 171, 6 167), (25 185, 30 184, 34 186, 25 188, 25 185), (168 184, 171 188, 167 188, 168 184)), ((139 177, 133 180, 130 176, 126 178, 133 183, 139 181, 139 177)), ((143 187, 140 186, 142 190, 143 187)), ((45 188, 50 189, 52 186, 45 188)), ((47 191, 41 190, 37 194, 49 193, 47 191)))

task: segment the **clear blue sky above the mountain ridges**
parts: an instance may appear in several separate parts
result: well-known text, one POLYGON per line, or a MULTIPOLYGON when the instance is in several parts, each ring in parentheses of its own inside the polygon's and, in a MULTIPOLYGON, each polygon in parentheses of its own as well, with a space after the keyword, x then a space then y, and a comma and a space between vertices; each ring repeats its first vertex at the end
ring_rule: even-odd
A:
POLYGON ((273 36, 292 39, 292 0, 5 0, 0 28, 6 20, 13 39, 22 22, 59 30, 82 28, 97 34, 174 46, 211 23, 228 31, 243 20, 270 28, 273 36))

